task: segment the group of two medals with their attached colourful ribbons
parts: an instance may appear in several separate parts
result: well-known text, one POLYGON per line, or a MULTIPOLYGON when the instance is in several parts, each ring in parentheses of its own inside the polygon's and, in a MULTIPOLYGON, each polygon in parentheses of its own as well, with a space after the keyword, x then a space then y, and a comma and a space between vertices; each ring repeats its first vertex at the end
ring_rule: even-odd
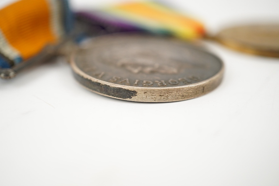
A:
POLYGON ((212 37, 201 22, 157 2, 75 13, 69 7, 67 0, 21 0, 0 10, 1 78, 64 51, 74 77, 95 93, 171 102, 204 95, 222 81, 222 60, 197 40, 279 56, 278 24, 236 26, 212 37))

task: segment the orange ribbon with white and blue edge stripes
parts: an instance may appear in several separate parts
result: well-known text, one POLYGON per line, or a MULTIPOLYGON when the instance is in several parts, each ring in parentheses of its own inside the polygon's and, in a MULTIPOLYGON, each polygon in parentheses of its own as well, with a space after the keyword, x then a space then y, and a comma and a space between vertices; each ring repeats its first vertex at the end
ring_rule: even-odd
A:
POLYGON ((21 0, 0 10, 0 67, 28 60, 72 29, 67 0, 21 0))

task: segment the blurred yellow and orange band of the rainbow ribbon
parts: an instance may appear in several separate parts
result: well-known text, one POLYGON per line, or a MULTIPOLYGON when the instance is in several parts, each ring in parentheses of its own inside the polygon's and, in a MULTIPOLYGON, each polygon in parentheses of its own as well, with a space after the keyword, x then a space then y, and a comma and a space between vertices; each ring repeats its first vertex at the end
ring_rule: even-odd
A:
POLYGON ((103 11, 141 28, 165 30, 182 39, 201 38, 205 34, 201 22, 155 2, 128 2, 103 11))

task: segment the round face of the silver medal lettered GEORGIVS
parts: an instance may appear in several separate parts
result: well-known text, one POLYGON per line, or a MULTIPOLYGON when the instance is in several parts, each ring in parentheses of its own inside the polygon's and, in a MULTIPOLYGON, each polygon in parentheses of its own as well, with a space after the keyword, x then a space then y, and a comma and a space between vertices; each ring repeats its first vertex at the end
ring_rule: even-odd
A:
POLYGON ((188 85, 212 77, 220 69, 220 63, 208 53, 146 36, 97 39, 76 61, 90 76, 130 86, 188 85))

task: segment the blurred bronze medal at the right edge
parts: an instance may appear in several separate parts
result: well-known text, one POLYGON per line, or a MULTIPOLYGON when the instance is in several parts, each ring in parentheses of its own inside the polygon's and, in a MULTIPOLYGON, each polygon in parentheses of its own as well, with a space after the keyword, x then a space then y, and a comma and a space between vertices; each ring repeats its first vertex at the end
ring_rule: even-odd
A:
POLYGON ((279 24, 234 26, 220 31, 214 39, 237 51, 279 57, 279 24))

